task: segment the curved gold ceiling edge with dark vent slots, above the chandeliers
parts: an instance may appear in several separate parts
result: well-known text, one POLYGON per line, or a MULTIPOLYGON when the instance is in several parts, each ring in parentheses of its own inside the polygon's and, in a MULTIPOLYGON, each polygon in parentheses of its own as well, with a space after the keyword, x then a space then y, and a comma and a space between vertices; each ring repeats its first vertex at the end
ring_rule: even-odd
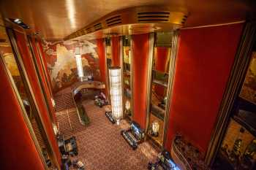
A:
POLYGON ((106 35, 143 34, 181 28, 187 12, 176 12, 170 7, 132 7, 111 12, 88 26, 66 36, 69 39, 97 39, 106 35))

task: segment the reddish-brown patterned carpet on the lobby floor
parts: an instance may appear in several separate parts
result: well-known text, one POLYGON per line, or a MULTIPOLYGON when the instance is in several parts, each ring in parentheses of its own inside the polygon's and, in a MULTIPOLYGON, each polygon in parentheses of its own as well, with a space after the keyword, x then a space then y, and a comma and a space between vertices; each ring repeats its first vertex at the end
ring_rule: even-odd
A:
POLYGON ((149 142, 143 142, 132 150, 121 136, 121 129, 128 128, 126 120, 113 125, 105 117, 105 109, 93 101, 83 101, 91 124, 84 131, 75 134, 78 142, 78 160, 86 170, 139 170, 147 169, 149 161, 155 161, 159 151, 149 142))

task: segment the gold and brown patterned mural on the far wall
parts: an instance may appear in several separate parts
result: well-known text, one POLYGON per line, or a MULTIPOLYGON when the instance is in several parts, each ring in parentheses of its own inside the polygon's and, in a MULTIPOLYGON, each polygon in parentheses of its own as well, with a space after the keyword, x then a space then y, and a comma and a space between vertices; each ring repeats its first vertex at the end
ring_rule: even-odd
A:
POLYGON ((53 86, 53 92, 78 82, 78 69, 75 61, 75 47, 81 47, 83 74, 100 79, 99 57, 96 41, 60 41, 45 42, 43 45, 48 63, 48 70, 53 86))

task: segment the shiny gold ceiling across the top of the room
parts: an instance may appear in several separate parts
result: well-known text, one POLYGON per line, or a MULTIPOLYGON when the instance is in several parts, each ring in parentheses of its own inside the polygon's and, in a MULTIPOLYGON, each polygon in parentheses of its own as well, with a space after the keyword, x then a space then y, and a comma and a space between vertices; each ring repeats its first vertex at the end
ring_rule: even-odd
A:
POLYGON ((185 27, 245 20, 256 9, 255 1, 245 0, 2 0, 0 7, 4 18, 21 18, 31 32, 53 40, 118 9, 148 5, 189 12, 185 27))

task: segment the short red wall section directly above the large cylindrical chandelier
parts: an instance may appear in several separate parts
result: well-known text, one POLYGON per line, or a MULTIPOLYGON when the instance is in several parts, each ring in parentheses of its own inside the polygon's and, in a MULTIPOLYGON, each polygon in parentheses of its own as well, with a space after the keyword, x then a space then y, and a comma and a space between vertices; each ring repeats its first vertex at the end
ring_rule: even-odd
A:
POLYGON ((119 37, 111 37, 112 66, 121 66, 119 37))

